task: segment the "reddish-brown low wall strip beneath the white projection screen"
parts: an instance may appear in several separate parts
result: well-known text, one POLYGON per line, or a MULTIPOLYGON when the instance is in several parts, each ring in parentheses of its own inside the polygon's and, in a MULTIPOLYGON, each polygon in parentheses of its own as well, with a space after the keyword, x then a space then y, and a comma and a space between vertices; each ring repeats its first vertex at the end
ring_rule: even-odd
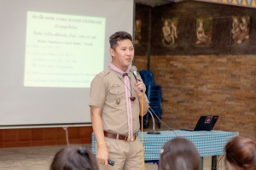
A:
MULTIPOLYGON (((69 144, 90 144, 92 127, 67 127, 69 144)), ((62 127, 0 129, 0 148, 65 145, 62 127)))

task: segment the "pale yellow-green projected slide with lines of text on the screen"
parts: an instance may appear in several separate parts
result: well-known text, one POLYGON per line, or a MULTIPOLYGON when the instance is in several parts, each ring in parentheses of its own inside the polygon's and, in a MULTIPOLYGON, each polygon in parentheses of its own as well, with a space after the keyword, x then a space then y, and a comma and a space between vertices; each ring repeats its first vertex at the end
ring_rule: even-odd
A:
POLYGON ((104 68, 104 18, 27 12, 24 86, 90 88, 104 68))

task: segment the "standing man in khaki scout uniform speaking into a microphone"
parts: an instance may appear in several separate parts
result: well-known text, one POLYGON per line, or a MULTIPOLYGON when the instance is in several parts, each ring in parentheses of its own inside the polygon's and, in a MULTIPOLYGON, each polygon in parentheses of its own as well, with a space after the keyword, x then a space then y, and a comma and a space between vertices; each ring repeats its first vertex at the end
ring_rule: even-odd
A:
POLYGON ((109 37, 112 62, 90 84, 90 116, 101 170, 141 170, 143 165, 137 131, 139 116, 148 111, 148 99, 142 79, 136 82, 129 68, 134 58, 131 40, 124 31, 109 37), (108 166, 108 159, 115 161, 114 166, 108 166))

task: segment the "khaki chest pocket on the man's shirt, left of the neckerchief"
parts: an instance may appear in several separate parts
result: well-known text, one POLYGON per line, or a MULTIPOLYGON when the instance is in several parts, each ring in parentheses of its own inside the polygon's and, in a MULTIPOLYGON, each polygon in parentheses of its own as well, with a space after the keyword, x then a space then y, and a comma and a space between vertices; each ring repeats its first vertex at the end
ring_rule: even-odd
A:
POLYGON ((108 91, 107 102, 114 107, 126 105, 125 102, 125 89, 124 88, 111 88, 108 91))

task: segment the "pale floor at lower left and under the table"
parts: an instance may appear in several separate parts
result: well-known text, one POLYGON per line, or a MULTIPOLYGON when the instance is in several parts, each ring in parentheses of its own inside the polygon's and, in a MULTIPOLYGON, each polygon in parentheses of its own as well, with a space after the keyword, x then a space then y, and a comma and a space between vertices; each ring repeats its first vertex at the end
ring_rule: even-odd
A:
MULTIPOLYGON (((29 148, 0 149, 1 170, 47 170, 55 153, 65 146, 43 146, 29 148)), ((85 145, 90 148, 90 144, 85 145)), ((218 169, 224 170, 222 159, 218 163, 218 169)), ((145 164, 146 170, 157 170, 153 163, 145 164)), ((204 170, 211 170, 211 157, 204 158, 204 170)))

